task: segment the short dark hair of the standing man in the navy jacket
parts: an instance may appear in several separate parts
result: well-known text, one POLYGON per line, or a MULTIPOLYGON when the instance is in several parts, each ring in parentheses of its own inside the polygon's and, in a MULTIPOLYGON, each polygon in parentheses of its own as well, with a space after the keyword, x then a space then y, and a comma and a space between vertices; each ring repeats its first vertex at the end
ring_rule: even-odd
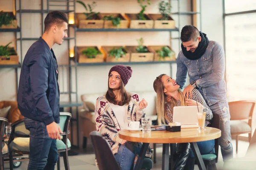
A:
POLYGON ((63 22, 68 23, 67 14, 61 11, 51 11, 44 19, 44 32, 48 31, 53 25, 60 25, 63 22))

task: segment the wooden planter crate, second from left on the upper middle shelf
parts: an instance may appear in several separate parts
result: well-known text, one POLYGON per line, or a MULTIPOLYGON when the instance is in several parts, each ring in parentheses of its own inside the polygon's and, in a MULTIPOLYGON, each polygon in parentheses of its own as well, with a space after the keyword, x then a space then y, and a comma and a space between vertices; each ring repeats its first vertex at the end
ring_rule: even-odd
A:
POLYGON ((112 15, 113 17, 119 17, 121 20, 120 20, 120 25, 117 27, 117 26, 114 26, 112 24, 112 21, 111 20, 104 20, 104 24, 103 24, 103 28, 128 28, 129 26, 129 23, 128 23, 128 20, 126 20, 121 14, 99 14, 99 17, 100 19, 104 19, 105 16, 110 16, 112 15))

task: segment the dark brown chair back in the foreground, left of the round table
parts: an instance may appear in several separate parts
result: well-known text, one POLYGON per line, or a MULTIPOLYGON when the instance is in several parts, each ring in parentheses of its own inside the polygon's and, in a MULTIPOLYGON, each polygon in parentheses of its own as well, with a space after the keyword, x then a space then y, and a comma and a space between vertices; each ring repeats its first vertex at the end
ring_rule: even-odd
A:
POLYGON ((97 131, 90 133, 99 170, 120 170, 108 142, 97 131))

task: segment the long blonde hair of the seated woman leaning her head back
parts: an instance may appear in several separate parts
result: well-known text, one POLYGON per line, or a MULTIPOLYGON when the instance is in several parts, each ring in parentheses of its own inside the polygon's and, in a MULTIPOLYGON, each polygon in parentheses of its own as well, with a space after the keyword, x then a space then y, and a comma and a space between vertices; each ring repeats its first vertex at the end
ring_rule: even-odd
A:
MULTIPOLYGON (((157 93, 157 120, 158 120, 158 125, 161 125, 162 122, 165 123, 166 120, 168 120, 167 114, 166 114, 167 108, 166 108, 166 105, 165 105, 165 102, 167 102, 166 101, 167 95, 163 92, 164 91, 164 86, 163 86, 163 82, 162 82, 162 77, 165 76, 165 75, 166 74, 161 74, 160 76, 158 76, 154 80, 154 83, 153 83, 154 91, 157 93)), ((179 92, 179 96, 180 96, 181 105, 186 106, 184 96, 183 96, 182 92, 180 91, 180 89, 178 90, 178 92, 179 92)), ((176 100, 173 97, 171 97, 170 103, 172 104, 172 107, 177 106, 176 100)))

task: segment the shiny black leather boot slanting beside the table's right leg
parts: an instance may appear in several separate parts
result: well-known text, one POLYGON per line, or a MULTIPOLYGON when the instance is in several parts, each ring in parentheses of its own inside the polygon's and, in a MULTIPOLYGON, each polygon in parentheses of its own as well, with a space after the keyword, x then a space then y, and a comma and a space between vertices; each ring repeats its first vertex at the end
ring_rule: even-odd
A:
POLYGON ((184 170, 186 162, 189 158, 189 154, 191 151, 190 143, 184 143, 182 145, 182 150, 174 165, 174 170, 184 170))

